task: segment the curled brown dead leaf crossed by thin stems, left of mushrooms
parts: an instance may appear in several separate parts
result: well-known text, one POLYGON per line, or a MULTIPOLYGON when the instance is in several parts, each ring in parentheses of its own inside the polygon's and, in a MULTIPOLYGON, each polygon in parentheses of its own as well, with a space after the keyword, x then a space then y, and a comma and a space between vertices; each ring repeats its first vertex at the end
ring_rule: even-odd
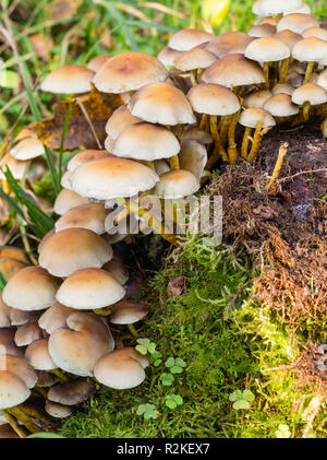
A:
MULTIPOLYGON (((123 105, 119 94, 99 93, 95 86, 86 96, 81 96, 82 102, 92 126, 102 144, 106 139, 105 126, 113 110, 123 105)), ((31 123, 32 129, 46 145, 51 149, 59 149, 61 142, 62 127, 69 109, 73 104, 72 98, 56 104, 53 107, 53 118, 47 118, 38 123, 31 123)), ((96 139, 92 132, 88 120, 83 114, 81 107, 75 104, 68 126, 64 150, 73 149, 99 149, 96 139)))

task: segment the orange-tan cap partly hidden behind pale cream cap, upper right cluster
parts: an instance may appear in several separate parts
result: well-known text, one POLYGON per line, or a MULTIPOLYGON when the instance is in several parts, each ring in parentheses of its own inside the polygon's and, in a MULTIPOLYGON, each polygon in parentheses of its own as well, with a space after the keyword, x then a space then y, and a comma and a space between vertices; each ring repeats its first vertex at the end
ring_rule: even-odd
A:
POLYGON ((217 56, 217 58, 222 58, 227 55, 243 55, 251 42, 253 42, 253 37, 244 34, 244 32, 227 32, 209 42, 206 49, 217 56))

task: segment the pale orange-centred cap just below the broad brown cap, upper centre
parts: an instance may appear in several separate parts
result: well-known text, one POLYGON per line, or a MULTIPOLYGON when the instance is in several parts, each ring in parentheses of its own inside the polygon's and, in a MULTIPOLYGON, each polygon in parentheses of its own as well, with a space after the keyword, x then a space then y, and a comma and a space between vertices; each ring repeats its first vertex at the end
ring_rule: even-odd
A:
POLYGON ((227 116, 240 109, 235 94, 219 84, 197 84, 189 91, 187 97, 193 109, 198 114, 227 116))

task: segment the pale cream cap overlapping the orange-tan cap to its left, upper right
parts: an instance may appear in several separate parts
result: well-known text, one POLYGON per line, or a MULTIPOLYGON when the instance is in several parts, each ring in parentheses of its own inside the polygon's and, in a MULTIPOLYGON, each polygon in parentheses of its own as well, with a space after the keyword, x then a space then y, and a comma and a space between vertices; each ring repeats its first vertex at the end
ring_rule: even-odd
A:
POLYGON ((274 37, 257 38, 245 49, 246 58, 259 62, 281 61, 289 58, 290 55, 288 45, 274 37))

